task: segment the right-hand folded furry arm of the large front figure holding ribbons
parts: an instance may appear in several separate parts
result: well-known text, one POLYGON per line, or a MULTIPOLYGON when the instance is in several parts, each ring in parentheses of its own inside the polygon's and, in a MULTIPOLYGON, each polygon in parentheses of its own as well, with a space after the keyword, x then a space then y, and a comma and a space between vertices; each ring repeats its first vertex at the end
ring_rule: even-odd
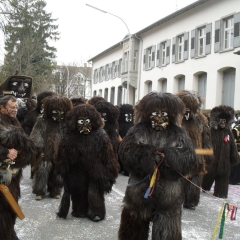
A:
POLYGON ((186 176, 193 171, 196 164, 196 154, 187 135, 178 133, 171 136, 166 145, 160 149, 160 152, 164 154, 163 167, 161 168, 164 176, 173 176, 173 171, 175 171, 174 177, 181 177, 177 172, 186 176))

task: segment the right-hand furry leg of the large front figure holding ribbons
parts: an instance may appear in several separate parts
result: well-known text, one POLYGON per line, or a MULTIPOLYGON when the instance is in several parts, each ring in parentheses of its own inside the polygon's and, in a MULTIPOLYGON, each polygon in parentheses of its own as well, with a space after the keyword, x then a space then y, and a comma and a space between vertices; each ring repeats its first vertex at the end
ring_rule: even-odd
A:
POLYGON ((152 239, 181 240, 181 215, 166 216, 160 213, 156 214, 153 219, 152 239))

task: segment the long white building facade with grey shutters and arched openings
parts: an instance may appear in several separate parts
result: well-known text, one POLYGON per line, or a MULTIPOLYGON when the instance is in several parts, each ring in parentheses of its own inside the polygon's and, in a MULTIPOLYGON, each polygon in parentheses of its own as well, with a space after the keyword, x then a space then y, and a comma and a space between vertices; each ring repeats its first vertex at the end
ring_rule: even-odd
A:
POLYGON ((92 96, 134 105, 150 91, 186 89, 205 109, 240 110, 239 50, 240 1, 199 0, 90 59, 92 96))

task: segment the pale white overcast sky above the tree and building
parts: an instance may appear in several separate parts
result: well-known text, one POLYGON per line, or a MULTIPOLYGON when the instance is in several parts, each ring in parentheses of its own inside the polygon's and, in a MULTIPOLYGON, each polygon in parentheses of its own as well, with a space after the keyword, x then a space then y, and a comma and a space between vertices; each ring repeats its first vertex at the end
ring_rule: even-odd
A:
MULTIPOLYGON (((46 0, 47 11, 58 19, 56 24, 60 32, 60 40, 51 45, 58 50, 58 61, 79 65, 116 44, 128 33, 120 19, 87 7, 86 3, 122 18, 133 34, 195 1, 46 0)), ((1 55, 2 48, 0 43, 1 55)))

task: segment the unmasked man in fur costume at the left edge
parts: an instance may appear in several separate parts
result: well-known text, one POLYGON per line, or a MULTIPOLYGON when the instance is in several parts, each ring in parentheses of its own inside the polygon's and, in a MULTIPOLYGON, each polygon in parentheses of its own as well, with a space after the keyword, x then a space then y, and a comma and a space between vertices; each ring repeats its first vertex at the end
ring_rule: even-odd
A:
MULTIPOLYGON (((0 100, 0 239, 16 240, 16 213, 22 168, 35 158, 35 146, 16 119, 18 104, 7 95, 0 100), (12 195, 16 203, 6 200, 12 195)), ((19 207, 18 207, 19 208, 19 207)))

